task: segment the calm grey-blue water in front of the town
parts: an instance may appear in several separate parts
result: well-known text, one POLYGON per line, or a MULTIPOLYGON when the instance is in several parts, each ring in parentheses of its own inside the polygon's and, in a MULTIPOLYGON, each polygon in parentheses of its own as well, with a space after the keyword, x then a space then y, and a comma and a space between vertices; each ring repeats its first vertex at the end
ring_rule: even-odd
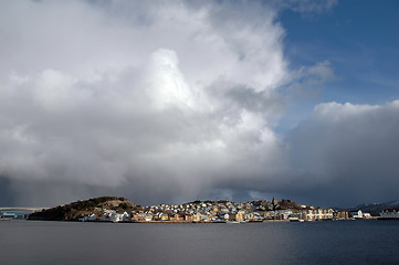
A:
POLYGON ((2 221, 0 264, 399 264, 399 221, 2 221))

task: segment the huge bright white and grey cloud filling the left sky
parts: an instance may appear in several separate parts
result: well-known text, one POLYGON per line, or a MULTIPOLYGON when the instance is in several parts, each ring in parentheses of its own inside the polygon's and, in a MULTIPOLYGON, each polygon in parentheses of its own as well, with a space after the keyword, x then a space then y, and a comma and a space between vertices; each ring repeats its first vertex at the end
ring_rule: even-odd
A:
POLYGON ((0 171, 176 195, 272 171, 287 73, 275 11, 193 4, 4 4, 0 171))

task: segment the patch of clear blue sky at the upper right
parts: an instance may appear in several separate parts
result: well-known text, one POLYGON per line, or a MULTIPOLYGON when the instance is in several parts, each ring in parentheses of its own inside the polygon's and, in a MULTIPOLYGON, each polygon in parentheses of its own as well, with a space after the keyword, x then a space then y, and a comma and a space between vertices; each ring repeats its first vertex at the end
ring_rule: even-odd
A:
POLYGON ((286 31, 290 67, 327 61, 335 80, 290 100, 276 130, 295 127, 318 103, 372 105, 399 98, 398 13, 396 0, 345 0, 322 13, 284 10, 279 21, 286 31))

